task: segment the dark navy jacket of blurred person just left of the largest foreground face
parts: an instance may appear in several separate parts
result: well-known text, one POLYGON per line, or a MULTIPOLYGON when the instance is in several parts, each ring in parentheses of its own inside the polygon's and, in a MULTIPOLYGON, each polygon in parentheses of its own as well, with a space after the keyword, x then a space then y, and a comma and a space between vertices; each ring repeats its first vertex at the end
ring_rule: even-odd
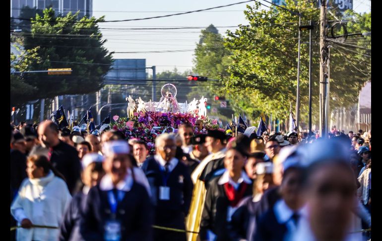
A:
POLYGON ((277 222, 273 208, 266 211, 258 220, 253 241, 282 241, 288 229, 277 222))

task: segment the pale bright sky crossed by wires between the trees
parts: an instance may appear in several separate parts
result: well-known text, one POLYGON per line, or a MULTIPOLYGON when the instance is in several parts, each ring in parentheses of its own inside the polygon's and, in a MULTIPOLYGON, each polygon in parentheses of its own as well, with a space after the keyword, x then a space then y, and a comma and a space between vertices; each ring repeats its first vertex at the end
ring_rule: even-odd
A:
MULTIPOLYGON (((106 20, 142 18, 177 12, 191 11, 231 4, 244 0, 93 0, 93 15, 106 16, 106 20)), ((267 5, 266 3, 262 1, 267 5)), ((353 9, 357 12, 369 12, 370 0, 353 0, 353 9)), ((129 22, 102 23, 102 28, 134 27, 207 27, 214 24, 219 33, 225 35, 227 29, 234 31, 238 24, 247 24, 243 10, 246 3, 194 12, 185 15, 158 19, 129 22)), ((172 70, 176 66, 181 72, 193 66, 193 50, 199 40, 201 29, 179 30, 110 30, 102 29, 104 38, 108 39, 106 47, 115 52, 141 52, 164 50, 191 50, 178 53, 121 53, 114 54, 116 59, 146 59, 146 66, 157 66, 157 73, 172 70)))

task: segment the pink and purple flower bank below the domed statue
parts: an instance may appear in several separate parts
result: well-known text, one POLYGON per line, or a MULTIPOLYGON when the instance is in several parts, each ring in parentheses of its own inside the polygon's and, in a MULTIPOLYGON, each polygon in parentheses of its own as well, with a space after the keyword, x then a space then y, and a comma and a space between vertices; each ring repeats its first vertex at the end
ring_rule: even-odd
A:
MULTIPOLYGON (((147 143, 150 155, 155 153, 155 138, 164 132, 177 132, 178 126, 183 123, 195 125, 199 116, 192 113, 163 113, 163 112, 133 112, 132 117, 113 117, 115 123, 112 128, 123 132, 126 139, 140 139, 147 143)), ((206 129, 217 129, 217 120, 201 116, 204 129, 195 134, 205 132, 206 129)))

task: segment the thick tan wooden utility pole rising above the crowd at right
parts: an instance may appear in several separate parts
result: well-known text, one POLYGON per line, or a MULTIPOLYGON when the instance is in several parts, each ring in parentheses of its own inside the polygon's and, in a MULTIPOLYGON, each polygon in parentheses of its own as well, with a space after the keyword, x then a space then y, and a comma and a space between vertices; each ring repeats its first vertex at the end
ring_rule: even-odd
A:
POLYGON ((320 65, 319 65, 319 135, 326 137, 325 130, 325 106, 326 106, 326 83, 327 83, 327 47, 325 43, 326 34, 326 0, 321 0, 320 9, 320 30, 319 30, 319 50, 320 50, 320 65))

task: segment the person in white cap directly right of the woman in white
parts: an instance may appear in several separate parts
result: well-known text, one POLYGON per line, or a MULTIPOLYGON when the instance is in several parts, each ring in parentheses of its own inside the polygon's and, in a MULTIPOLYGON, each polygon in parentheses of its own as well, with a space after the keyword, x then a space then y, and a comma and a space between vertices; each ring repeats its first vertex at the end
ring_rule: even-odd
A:
POLYGON ((83 215, 87 194, 91 187, 99 183, 105 175, 102 168, 104 158, 96 153, 86 154, 82 158, 81 180, 83 187, 79 189, 70 202, 69 207, 64 214, 64 220, 60 227, 60 241, 77 241, 82 240, 79 233, 80 219, 83 215))

